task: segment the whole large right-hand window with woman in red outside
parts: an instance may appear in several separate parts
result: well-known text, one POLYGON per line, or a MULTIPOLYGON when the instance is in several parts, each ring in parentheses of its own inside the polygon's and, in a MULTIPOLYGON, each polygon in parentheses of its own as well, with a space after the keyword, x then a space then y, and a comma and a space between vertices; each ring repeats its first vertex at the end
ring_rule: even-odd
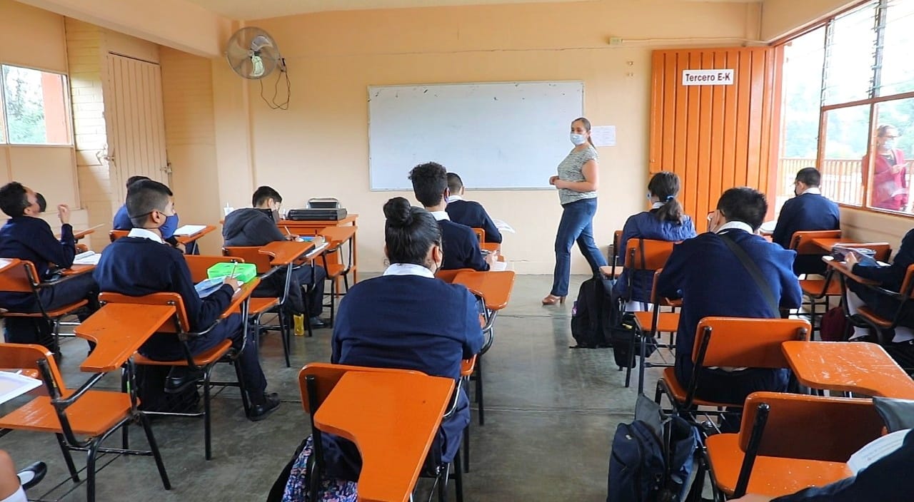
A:
POLYGON ((914 0, 870 0, 783 42, 778 207, 815 165, 835 202, 914 214, 910 47, 914 0))

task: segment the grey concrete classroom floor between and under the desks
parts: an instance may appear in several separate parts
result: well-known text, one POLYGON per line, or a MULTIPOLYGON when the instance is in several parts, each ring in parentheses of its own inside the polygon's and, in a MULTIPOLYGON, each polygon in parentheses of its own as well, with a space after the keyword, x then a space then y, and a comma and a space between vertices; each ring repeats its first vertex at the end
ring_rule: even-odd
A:
MULTIPOLYGON (((571 291, 577 293, 584 278, 572 277, 571 291)), ((611 437, 616 424, 631 421, 635 392, 622 386, 624 373, 613 364, 611 350, 569 350, 574 344, 571 298, 562 306, 541 306, 550 285, 551 276, 518 276, 510 305, 495 322, 494 345, 485 355, 484 426, 478 425, 473 410, 471 472, 463 477, 468 502, 606 499, 611 437)), ((163 489, 151 457, 122 456, 99 474, 98 500, 264 500, 309 431, 298 370, 309 361, 329 361, 330 335, 330 329, 318 329, 313 339, 296 337, 292 368, 285 368, 281 342, 268 334, 261 345, 263 369, 269 390, 282 398, 279 410, 252 423, 244 417, 237 391, 218 395, 213 400, 213 459, 208 462, 201 419, 157 420, 154 434, 173 488, 163 489)), ((62 370, 69 387, 75 388, 85 380, 77 367, 86 344, 65 340, 62 370)), ((220 374, 233 376, 231 371, 220 374)), ((649 374, 647 389, 653 389, 656 376, 649 374)), ((113 376, 102 384, 119 387, 113 376)), ((141 428, 132 426, 131 434, 133 444, 144 444, 141 428)), ((116 446, 118 437, 108 443, 116 446)), ((30 497, 85 500, 84 486, 62 495, 72 483, 52 435, 13 432, 0 447, 17 465, 48 463, 48 477, 30 497), (58 484, 60 488, 46 495, 58 484)), ((78 466, 85 464, 81 454, 75 460, 78 466)), ((418 493, 429 488, 420 480, 418 493)))

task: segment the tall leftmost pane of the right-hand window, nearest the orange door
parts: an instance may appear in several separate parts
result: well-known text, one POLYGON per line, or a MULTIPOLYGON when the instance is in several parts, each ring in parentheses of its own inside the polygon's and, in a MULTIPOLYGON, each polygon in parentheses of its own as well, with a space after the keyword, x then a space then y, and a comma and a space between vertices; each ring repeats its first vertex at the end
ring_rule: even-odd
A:
POLYGON ((796 37, 784 46, 781 87, 781 159, 775 212, 793 196, 796 172, 815 165, 819 141, 819 103, 825 28, 796 37))

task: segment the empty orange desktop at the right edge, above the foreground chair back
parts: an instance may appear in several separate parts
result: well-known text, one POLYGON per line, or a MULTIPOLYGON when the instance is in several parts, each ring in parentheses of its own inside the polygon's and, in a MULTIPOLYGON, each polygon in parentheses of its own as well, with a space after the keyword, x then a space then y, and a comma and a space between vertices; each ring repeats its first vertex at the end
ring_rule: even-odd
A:
POLYGON ((781 350, 807 387, 914 399, 914 380, 876 343, 785 341, 781 350))

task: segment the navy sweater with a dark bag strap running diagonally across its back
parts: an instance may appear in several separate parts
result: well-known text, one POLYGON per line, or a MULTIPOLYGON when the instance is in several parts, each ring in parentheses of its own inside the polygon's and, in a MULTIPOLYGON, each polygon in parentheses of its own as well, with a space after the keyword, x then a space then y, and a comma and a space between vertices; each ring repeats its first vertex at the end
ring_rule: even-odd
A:
MULTIPOLYGON (((802 291, 793 275, 796 252, 770 243, 760 235, 728 230, 727 235, 743 248, 759 267, 761 275, 781 309, 800 307, 802 291)), ((676 376, 688 382, 692 375, 692 346, 698 321, 709 316, 778 319, 760 288, 739 258, 719 235, 710 232, 673 247, 657 281, 664 297, 683 298, 676 333, 676 376)))

